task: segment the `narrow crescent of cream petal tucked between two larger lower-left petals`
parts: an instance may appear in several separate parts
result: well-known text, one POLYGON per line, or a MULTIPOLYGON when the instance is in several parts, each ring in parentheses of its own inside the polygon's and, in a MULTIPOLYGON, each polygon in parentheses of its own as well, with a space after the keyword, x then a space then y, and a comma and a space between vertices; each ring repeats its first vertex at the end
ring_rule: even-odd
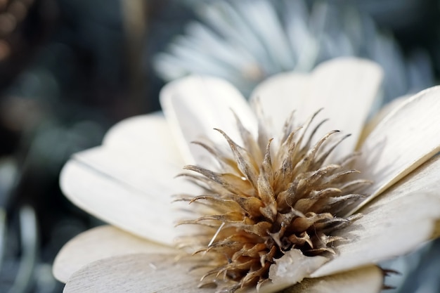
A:
POLYGON ((86 264, 137 253, 164 253, 173 249, 150 242, 113 226, 99 226, 77 235, 58 252, 53 262, 53 275, 61 282, 86 264))

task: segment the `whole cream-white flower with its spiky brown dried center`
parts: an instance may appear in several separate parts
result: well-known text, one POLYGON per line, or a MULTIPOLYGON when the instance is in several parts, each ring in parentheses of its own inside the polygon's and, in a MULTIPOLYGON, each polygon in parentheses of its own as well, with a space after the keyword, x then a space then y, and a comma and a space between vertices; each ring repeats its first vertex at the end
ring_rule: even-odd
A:
POLYGON ((164 115, 120 122, 62 171, 110 223, 60 251, 64 292, 379 292, 375 263, 440 234, 440 88, 367 122, 381 79, 339 58, 249 103, 214 77, 167 84, 164 115))

